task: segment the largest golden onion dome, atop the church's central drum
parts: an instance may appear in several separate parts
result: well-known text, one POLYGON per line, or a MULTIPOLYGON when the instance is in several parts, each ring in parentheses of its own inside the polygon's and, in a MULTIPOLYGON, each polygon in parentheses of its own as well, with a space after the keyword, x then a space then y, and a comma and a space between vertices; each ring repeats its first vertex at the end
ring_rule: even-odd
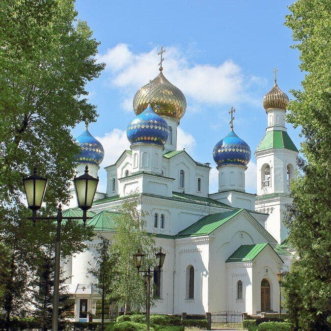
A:
POLYGON ((162 67, 160 68, 160 74, 153 81, 142 86, 136 93, 133 99, 133 108, 136 115, 142 113, 149 103, 159 115, 180 120, 185 114, 185 96, 178 87, 165 78, 162 73, 162 67))

